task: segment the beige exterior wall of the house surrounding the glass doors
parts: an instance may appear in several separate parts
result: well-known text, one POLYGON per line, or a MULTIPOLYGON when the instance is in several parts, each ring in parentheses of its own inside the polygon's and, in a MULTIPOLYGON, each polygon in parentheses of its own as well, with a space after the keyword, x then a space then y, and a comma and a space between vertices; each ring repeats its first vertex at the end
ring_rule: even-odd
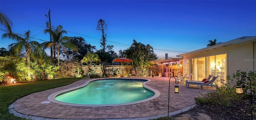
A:
MULTIPOLYGON (((255 71, 256 70, 256 42, 248 42, 244 44, 232 44, 225 47, 220 47, 204 52, 197 52, 187 54, 183 56, 184 60, 190 60, 190 72, 191 70, 191 59, 201 58, 207 56, 214 56, 219 54, 227 54, 226 58, 226 72, 227 75, 236 73, 236 70, 242 71, 255 71)), ((183 64, 185 65, 185 63, 183 64)), ((191 74, 191 73, 190 73, 191 74)), ((224 80, 226 77, 224 77, 224 80)))

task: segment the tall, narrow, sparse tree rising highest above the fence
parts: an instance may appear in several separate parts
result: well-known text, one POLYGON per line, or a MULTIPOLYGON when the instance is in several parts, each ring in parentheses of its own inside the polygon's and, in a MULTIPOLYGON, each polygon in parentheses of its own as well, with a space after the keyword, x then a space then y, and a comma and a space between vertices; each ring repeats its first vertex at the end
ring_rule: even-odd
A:
POLYGON ((100 42, 100 44, 101 44, 100 46, 102 47, 102 51, 105 52, 105 50, 106 50, 106 41, 107 41, 107 39, 106 39, 107 34, 105 34, 105 30, 108 30, 108 26, 107 26, 107 24, 105 23, 104 20, 100 19, 98 21, 98 25, 97 25, 96 30, 100 30, 102 32, 102 36, 101 36, 101 39, 100 39, 100 41, 102 41, 102 42, 100 42))

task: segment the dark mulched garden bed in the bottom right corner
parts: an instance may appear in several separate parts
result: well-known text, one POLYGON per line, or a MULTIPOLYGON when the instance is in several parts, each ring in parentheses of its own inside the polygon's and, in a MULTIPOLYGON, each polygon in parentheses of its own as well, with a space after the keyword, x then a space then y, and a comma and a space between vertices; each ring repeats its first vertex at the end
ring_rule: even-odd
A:
MULTIPOLYGON (((255 106, 256 100, 253 99, 252 101, 255 106)), ((214 104, 196 104, 191 110, 171 116, 171 118, 175 120, 176 117, 180 117, 183 114, 190 114, 194 120, 198 120, 196 116, 198 116, 198 113, 202 113, 210 116, 212 120, 251 120, 250 106, 250 99, 242 100, 241 102, 232 101, 232 105, 229 107, 214 104)), ((256 120, 256 110, 253 112, 253 120, 256 120)))

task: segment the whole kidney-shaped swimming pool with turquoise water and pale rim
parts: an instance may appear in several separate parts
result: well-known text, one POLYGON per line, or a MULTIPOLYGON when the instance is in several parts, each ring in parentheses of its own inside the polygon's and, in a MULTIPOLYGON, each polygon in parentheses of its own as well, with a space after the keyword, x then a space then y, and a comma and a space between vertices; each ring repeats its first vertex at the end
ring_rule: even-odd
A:
POLYGON ((51 94, 48 100, 72 106, 120 106, 152 100, 160 93, 146 79, 103 78, 51 94))

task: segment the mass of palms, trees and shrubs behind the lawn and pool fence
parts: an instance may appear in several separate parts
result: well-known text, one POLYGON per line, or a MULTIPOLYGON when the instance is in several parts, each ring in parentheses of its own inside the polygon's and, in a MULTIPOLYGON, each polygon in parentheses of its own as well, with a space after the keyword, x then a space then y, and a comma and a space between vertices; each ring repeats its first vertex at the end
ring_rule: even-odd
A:
MULTIPOLYGON (((100 44, 102 49, 96 50, 96 46, 87 44, 82 37, 64 36, 67 33, 62 26, 53 29, 46 29, 44 33, 49 33, 52 41, 39 44, 32 41, 30 30, 24 35, 12 34, 12 22, 3 14, 0 14, 0 22, 9 31, 2 35, 2 38, 9 38, 16 43, 6 48, 0 48, 0 83, 10 81, 15 78, 18 82, 28 82, 37 80, 53 79, 57 77, 81 77, 84 73, 81 65, 89 66, 90 78, 103 77, 106 71, 114 75, 118 74, 119 69, 106 70, 114 58, 118 55, 114 51, 113 45, 106 44, 106 30, 108 26, 105 21, 100 19, 96 30, 101 32, 100 44), (53 50, 50 59, 45 49, 53 50), (95 52, 94 52, 95 51, 95 52), (56 57, 57 55, 57 57, 56 57), (96 73, 95 65, 100 64, 102 73, 96 73)), ((133 41, 132 46, 126 50, 120 50, 119 56, 132 59, 131 64, 134 69, 146 70, 150 65, 150 60, 155 60, 156 54, 152 46, 144 45, 140 42, 133 41)))

